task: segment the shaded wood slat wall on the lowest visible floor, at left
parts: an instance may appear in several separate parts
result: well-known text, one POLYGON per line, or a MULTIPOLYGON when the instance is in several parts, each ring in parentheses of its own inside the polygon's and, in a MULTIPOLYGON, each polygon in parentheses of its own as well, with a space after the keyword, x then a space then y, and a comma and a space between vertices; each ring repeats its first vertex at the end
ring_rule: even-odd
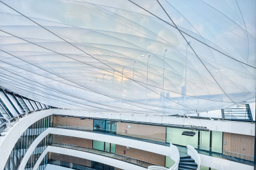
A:
POLYGON ((51 153, 51 159, 56 160, 56 161, 63 161, 67 163, 74 163, 77 165, 83 165, 86 167, 92 167, 92 161, 88 159, 82 159, 79 157, 72 157, 69 155, 63 155, 59 153, 51 153))

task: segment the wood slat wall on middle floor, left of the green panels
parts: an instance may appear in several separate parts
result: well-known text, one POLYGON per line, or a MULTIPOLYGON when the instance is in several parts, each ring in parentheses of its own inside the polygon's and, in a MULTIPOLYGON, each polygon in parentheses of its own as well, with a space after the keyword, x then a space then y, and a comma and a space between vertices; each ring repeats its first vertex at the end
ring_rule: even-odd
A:
POLYGON ((74 144, 77 146, 92 148, 92 140, 87 138, 76 138, 71 136, 53 134, 53 142, 61 142, 65 144, 74 144))

